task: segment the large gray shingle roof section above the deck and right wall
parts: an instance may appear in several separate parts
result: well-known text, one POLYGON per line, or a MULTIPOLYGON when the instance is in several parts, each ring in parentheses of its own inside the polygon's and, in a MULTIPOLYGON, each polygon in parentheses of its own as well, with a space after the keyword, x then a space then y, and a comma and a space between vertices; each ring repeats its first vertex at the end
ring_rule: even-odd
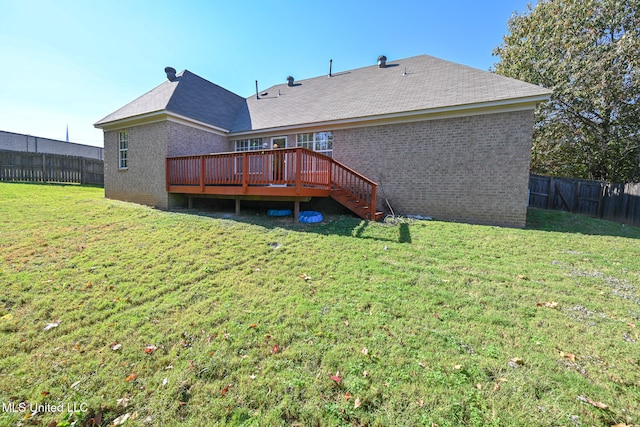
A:
POLYGON ((260 130, 336 120, 384 116, 444 107, 539 97, 550 92, 487 71, 428 55, 388 61, 286 83, 247 98, 246 116, 233 131, 260 130), (406 71, 406 74, 405 74, 406 71), (278 96, 279 94, 279 96, 278 96))

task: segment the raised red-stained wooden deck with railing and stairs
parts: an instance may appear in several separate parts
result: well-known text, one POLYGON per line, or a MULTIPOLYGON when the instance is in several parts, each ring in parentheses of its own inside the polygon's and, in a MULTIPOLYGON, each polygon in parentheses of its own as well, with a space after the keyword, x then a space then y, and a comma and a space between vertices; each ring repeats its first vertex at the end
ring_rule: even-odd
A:
POLYGON ((169 193, 238 201, 333 197, 362 218, 379 216, 375 182, 305 148, 169 157, 166 162, 169 193))

